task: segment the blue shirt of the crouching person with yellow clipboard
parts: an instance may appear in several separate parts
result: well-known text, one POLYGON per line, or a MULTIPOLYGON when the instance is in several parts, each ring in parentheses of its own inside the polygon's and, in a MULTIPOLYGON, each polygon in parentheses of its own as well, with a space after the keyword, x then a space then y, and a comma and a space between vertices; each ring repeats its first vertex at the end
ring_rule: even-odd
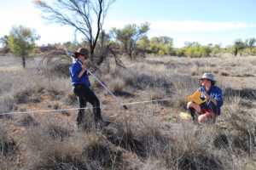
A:
MULTIPOLYGON (((197 91, 207 92, 204 87, 198 88, 197 91)), ((208 90, 207 94, 216 100, 217 105, 214 105, 210 99, 208 99, 205 103, 201 104, 202 109, 207 109, 208 111, 214 111, 216 115, 220 115, 220 107, 223 105, 222 91, 220 88, 216 86, 211 86, 208 90)))

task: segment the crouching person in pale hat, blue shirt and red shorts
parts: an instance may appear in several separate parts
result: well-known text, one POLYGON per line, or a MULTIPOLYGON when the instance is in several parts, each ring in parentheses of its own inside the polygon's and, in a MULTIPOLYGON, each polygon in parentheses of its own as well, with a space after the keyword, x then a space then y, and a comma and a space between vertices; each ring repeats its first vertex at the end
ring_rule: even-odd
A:
POLYGON ((204 92, 204 99, 206 102, 201 105, 196 104, 193 101, 189 101, 187 108, 192 116, 192 120, 197 122, 212 122, 216 121, 216 118, 220 115, 220 107, 223 105, 222 90, 215 85, 215 80, 211 73, 205 73, 200 79, 201 88, 197 91, 204 92))

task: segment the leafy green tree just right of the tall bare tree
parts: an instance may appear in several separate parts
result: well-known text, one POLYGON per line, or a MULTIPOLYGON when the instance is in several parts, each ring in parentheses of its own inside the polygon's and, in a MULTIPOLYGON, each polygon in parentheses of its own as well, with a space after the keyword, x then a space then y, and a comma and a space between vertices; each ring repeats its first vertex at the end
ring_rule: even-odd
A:
POLYGON ((132 52, 135 50, 137 41, 141 37, 146 36, 149 30, 148 22, 143 23, 141 26, 126 25, 123 29, 112 28, 110 34, 121 43, 125 49, 125 53, 132 59, 132 52))

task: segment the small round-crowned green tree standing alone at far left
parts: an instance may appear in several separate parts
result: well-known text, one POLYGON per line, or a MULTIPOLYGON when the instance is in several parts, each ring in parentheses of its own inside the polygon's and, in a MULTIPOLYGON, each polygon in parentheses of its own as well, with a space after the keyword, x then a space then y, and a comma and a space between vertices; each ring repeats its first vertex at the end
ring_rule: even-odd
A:
POLYGON ((8 44, 11 52, 22 59, 23 68, 26 67, 26 57, 29 57, 35 50, 36 43, 40 37, 35 31, 24 26, 13 27, 10 31, 8 44))

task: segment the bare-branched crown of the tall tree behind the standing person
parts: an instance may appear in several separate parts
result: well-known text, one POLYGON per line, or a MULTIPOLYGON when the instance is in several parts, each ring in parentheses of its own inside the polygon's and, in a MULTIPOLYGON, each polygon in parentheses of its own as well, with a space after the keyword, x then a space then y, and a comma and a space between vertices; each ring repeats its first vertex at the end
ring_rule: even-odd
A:
POLYGON ((34 3, 43 10, 44 19, 72 26, 75 32, 82 33, 84 41, 90 45, 90 56, 93 57, 108 8, 114 1, 53 0, 46 3, 44 0, 36 0, 34 3))

